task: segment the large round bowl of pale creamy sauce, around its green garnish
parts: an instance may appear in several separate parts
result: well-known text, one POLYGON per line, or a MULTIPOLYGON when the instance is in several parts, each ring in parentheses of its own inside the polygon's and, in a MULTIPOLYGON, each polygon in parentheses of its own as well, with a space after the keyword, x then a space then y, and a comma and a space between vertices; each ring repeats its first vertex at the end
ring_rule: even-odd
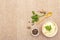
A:
POLYGON ((46 36, 46 37, 53 37, 57 34, 58 31, 58 26, 55 22, 53 21, 47 21, 43 24, 42 26, 42 33, 46 36), (46 25, 51 25, 51 31, 47 31, 45 26, 46 25))

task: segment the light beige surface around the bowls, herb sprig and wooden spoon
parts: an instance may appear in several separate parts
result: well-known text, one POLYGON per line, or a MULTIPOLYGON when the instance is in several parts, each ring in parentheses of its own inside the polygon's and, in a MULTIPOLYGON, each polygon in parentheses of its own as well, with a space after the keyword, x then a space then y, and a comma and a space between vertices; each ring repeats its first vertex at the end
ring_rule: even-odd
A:
POLYGON ((41 9, 53 12, 45 21, 56 22, 60 30, 60 0, 0 0, 0 40, 60 40, 59 30, 48 38, 41 32, 33 37, 27 29, 31 11, 41 9))

